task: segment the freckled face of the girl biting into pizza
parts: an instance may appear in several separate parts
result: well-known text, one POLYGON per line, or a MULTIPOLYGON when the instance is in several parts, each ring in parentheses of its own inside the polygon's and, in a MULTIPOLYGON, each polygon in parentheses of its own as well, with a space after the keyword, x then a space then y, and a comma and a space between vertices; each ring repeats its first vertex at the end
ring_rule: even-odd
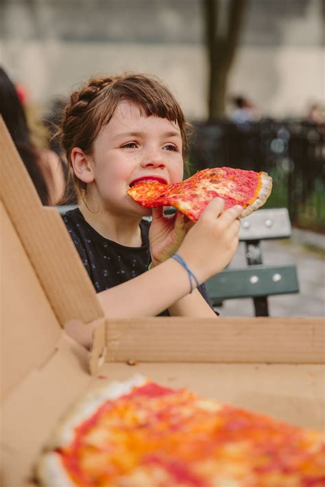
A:
POLYGON ((137 180, 182 180, 180 128, 167 119, 142 115, 132 102, 121 102, 99 132, 89 160, 93 171, 89 195, 112 213, 149 215, 151 210, 134 202, 126 191, 137 180))

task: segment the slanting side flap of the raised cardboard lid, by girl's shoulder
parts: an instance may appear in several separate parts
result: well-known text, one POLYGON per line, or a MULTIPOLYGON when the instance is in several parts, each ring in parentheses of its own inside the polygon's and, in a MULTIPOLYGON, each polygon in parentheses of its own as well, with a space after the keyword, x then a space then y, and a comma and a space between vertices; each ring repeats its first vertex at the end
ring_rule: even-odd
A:
POLYGON ((95 289, 56 209, 43 207, 0 117, 1 198, 61 326, 103 316, 95 289))

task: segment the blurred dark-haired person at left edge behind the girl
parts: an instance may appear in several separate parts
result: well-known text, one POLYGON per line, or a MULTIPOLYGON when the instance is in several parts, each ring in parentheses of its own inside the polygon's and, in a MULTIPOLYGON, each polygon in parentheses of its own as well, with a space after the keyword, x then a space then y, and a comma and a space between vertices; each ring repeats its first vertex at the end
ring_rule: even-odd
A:
POLYGON ((38 150, 31 141, 25 110, 16 88, 0 67, 0 114, 16 149, 32 179, 40 200, 56 205, 64 194, 64 170, 58 155, 48 149, 38 150))

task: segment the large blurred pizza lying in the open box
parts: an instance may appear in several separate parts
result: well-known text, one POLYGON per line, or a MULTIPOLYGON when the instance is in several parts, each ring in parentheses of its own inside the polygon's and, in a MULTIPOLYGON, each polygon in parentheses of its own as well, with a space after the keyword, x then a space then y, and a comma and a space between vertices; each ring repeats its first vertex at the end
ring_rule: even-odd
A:
POLYGON ((36 468, 51 487, 324 487, 317 431, 142 377, 86 396, 36 468))

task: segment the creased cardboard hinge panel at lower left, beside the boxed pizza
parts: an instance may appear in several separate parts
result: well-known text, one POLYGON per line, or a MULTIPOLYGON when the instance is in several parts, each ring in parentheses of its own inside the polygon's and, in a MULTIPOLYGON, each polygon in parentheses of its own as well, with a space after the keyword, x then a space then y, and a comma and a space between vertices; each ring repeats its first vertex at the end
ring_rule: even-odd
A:
MULTIPOLYGON (((49 434, 92 378, 87 352, 62 333, 56 352, 33 370, 3 402, 1 457, 3 485, 32 484, 33 466, 49 434)), ((1 482, 0 482, 1 483, 1 482)))

